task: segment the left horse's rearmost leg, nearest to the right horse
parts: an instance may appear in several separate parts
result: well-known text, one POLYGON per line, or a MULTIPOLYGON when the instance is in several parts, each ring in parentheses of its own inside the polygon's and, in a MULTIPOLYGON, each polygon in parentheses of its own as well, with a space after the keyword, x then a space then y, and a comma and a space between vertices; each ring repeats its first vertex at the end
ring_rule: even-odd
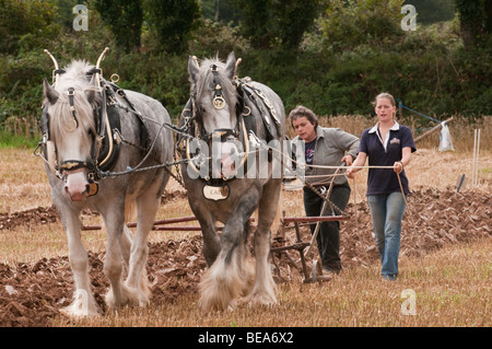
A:
MULTIPOLYGON (((165 182, 164 182, 165 183, 165 182)), ((138 291, 140 306, 149 303, 151 291, 147 276, 147 258, 149 256, 149 233, 154 224, 164 190, 162 181, 155 181, 152 186, 138 198, 137 234, 131 244, 129 272, 126 284, 138 291)))

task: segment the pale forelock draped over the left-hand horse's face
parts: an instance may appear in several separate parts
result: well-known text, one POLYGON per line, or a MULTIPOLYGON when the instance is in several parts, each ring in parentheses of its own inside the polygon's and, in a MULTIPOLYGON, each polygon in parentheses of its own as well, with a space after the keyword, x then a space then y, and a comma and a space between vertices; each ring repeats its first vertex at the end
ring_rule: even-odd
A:
POLYGON ((68 96, 70 88, 74 89, 73 105, 80 129, 83 130, 82 137, 89 142, 89 135, 84 130, 89 128, 95 131, 94 108, 101 105, 102 96, 95 83, 87 79, 87 72, 93 68, 94 66, 84 60, 73 60, 58 79, 55 88, 59 93, 58 101, 52 105, 47 100, 44 101, 44 104, 48 105, 50 133, 55 139, 67 131, 73 131, 73 116, 68 96))

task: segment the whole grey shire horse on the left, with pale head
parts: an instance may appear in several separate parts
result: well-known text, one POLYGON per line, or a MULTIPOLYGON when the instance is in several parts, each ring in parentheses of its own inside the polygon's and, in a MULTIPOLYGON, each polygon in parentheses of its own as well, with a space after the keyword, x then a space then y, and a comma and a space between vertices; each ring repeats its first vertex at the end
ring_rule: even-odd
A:
POLYGON ((159 166, 140 172, 131 168, 173 159, 173 135, 161 126, 171 123, 169 116, 160 102, 105 81, 98 63, 93 67, 73 60, 60 70, 54 61, 55 84, 44 81, 44 141, 39 154, 67 232, 75 283, 73 302, 62 313, 99 313, 91 291, 87 252, 81 241, 80 214, 85 208, 99 212, 107 230, 107 305, 145 306, 150 299, 148 235, 169 174, 159 166), (128 174, 105 177, 109 171, 128 174), (133 236, 125 222, 134 213, 133 236), (125 281, 122 260, 128 268, 125 281))

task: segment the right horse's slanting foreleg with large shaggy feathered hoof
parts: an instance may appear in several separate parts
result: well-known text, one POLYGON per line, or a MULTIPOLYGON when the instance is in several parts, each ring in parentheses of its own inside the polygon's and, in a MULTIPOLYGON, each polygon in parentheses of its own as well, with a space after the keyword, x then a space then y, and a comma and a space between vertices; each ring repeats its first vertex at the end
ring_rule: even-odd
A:
POLYGON ((258 190, 247 193, 224 225, 222 248, 199 284, 199 305, 203 312, 234 309, 249 284, 251 272, 246 263, 248 252, 245 234, 248 230, 245 226, 257 207, 258 197, 258 190))

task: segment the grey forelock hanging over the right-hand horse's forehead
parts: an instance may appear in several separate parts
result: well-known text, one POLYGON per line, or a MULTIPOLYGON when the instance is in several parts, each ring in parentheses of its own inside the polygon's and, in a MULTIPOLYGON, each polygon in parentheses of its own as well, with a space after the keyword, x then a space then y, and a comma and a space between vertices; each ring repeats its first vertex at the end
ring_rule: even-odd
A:
POLYGON ((215 86, 212 85, 213 74, 211 67, 215 65, 218 68, 218 82, 222 86, 222 96, 224 97, 227 105, 234 107, 237 103, 236 89, 230 77, 226 75, 225 63, 215 58, 207 58, 200 62, 200 69, 198 73, 196 88, 196 101, 203 101, 203 97, 210 95, 215 86))

